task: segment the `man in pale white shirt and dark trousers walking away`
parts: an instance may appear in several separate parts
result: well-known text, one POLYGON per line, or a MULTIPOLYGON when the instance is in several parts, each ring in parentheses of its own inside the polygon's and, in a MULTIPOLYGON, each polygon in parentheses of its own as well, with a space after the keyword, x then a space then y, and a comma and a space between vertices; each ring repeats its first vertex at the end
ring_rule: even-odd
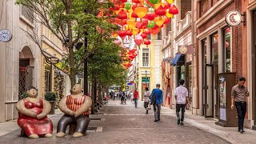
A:
POLYGON ((189 94, 185 86, 183 86, 185 81, 183 79, 179 80, 179 86, 175 90, 175 100, 176 100, 176 115, 178 118, 178 125, 184 125, 184 113, 186 104, 189 105, 189 94), (179 117, 179 111, 182 108, 182 118, 179 117))

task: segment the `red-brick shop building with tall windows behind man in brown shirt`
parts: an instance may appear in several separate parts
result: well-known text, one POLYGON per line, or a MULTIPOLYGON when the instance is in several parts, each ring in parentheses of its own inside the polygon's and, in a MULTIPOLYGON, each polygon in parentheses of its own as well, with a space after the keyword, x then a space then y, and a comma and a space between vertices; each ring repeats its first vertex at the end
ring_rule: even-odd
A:
MULTIPOLYGON (((252 50, 255 49, 252 42, 254 39, 252 27, 256 27, 253 22, 256 22, 256 18, 254 20, 252 17, 256 2, 249 3, 242 0, 194 0, 192 6, 194 18, 192 33, 195 46, 193 60, 197 63, 194 67, 196 69, 194 93, 198 96, 194 100, 194 113, 206 118, 226 117, 226 113, 219 107, 220 103, 226 105, 226 98, 218 94, 218 74, 235 73, 235 83, 240 76, 248 80, 246 86, 249 87, 250 98, 247 102, 245 120, 247 127, 254 126, 256 112, 255 104, 253 105, 256 103, 254 96, 256 91, 253 90, 256 82, 256 79, 253 79, 256 75, 254 74, 255 50, 252 50), (246 12, 245 25, 243 22, 238 26, 227 24, 226 14, 232 10, 237 10, 240 14, 246 12)), ((242 20, 244 20, 243 16, 242 20)))

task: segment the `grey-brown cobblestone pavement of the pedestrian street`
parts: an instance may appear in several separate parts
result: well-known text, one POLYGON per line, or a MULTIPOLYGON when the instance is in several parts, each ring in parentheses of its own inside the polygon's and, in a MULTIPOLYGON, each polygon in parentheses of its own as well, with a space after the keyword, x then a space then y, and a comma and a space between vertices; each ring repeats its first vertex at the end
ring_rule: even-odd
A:
MULTIPOLYGON (((138 102, 138 108, 135 108, 132 102, 121 105, 120 101, 110 101, 106 106, 102 106, 98 114, 90 115, 92 120, 89 126, 98 127, 97 131, 88 131, 82 138, 72 138, 67 135, 65 138, 34 140, 22 138, 19 136, 20 130, 14 130, 0 137, 0 143, 230 143, 189 123, 185 123, 185 126, 177 126, 176 118, 171 116, 166 109, 162 109, 160 122, 154 122, 152 110, 150 110, 150 114, 146 115, 145 113, 143 102, 138 102)), ((62 114, 56 114, 51 117, 54 122, 54 136, 58 119, 61 116, 62 114)))

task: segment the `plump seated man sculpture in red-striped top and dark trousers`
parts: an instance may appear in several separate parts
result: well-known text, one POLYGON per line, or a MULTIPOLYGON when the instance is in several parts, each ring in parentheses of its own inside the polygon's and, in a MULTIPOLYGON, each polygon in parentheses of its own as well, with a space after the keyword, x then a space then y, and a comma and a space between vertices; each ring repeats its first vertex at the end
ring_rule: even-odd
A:
POLYGON ((76 123, 76 130, 73 137, 82 137, 89 125, 91 98, 82 94, 82 86, 74 85, 71 90, 71 95, 68 95, 59 102, 59 109, 65 113, 58 121, 57 135, 61 138, 66 134, 66 127, 72 123, 76 123))

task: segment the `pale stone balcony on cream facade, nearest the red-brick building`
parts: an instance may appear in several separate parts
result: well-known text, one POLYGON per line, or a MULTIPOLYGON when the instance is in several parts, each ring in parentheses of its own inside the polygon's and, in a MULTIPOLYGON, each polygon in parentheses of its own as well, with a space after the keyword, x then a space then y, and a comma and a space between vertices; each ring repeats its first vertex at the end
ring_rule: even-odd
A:
POLYGON ((186 13, 186 17, 178 22, 176 34, 180 34, 187 26, 191 24, 191 11, 186 13))

